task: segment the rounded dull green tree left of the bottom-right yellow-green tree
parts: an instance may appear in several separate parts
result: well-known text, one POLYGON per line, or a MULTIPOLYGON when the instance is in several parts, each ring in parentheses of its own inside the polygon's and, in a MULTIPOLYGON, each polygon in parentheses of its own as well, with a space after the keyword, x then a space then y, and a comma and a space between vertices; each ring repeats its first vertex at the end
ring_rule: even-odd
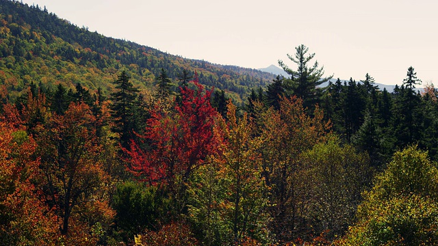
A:
POLYGON ((357 153, 350 145, 341 146, 337 137, 316 144, 300 157, 307 184, 307 219, 313 234, 327 238, 342 235, 352 224, 361 191, 372 176, 367 154, 357 153))

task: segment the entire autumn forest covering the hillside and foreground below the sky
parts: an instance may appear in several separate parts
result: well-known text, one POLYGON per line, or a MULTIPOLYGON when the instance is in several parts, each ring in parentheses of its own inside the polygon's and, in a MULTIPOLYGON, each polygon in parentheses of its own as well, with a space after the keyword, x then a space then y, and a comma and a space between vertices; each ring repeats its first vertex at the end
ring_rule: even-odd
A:
POLYGON ((0 245, 438 244, 413 67, 321 87, 303 44, 273 78, 0 3, 0 245))

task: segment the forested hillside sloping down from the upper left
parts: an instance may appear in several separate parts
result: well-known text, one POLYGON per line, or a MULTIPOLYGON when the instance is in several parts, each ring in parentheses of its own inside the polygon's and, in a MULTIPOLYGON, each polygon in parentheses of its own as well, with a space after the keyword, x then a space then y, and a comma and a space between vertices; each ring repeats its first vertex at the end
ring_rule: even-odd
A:
POLYGON ((109 94, 122 70, 142 90, 153 90, 161 69, 173 80, 183 69, 198 72, 207 88, 215 87, 236 102, 242 102, 250 88, 266 86, 274 79, 269 72, 208 61, 185 59, 149 46, 102 36, 79 28, 38 5, 0 0, 0 85, 12 96, 31 82, 53 87, 62 83, 109 94))

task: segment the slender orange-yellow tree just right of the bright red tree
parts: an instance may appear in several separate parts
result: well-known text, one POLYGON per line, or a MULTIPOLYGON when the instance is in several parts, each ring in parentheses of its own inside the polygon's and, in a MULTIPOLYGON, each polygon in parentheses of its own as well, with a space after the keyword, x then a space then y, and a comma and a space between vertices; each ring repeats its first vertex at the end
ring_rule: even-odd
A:
POLYGON ((261 176, 261 155, 257 151, 261 138, 254 138, 255 126, 248 115, 237 122, 236 107, 228 104, 227 118, 229 124, 225 133, 227 143, 224 146, 224 164, 227 178, 230 180, 229 202, 232 204, 233 236, 236 244, 246 237, 263 234, 259 225, 268 219, 263 208, 268 203, 265 182, 261 176))

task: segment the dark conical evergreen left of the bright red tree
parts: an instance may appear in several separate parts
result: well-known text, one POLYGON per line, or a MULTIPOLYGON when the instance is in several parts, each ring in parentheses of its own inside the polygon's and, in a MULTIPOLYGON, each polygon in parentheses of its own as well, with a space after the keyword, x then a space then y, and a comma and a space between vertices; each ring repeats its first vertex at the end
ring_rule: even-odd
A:
POLYGON ((133 84, 129 82, 130 77, 126 74, 125 70, 118 76, 118 79, 114 81, 118 92, 114 92, 112 117, 114 118, 113 131, 120 135, 120 144, 124 148, 129 148, 129 139, 133 139, 133 124, 135 120, 134 115, 134 102, 138 96, 138 89, 133 87, 133 84))

